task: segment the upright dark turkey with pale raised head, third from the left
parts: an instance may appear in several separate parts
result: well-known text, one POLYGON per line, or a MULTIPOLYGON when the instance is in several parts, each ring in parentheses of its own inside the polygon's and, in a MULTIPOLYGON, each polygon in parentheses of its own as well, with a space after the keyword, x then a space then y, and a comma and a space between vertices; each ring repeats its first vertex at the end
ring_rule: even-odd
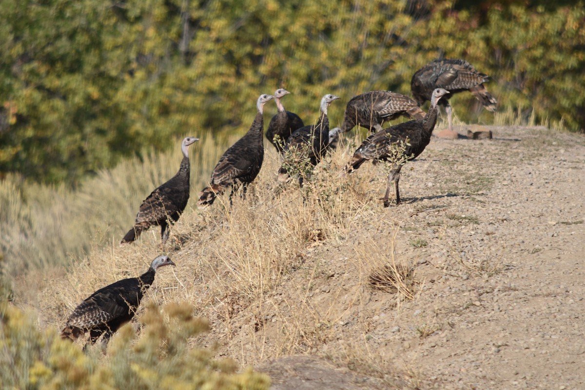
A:
POLYGON ((263 108, 266 102, 273 99, 272 95, 260 95, 256 102, 256 118, 250 126, 250 130, 235 144, 223 153, 209 180, 209 187, 199 192, 199 205, 211 205, 216 196, 223 194, 227 187, 232 187, 229 195, 230 203, 235 188, 242 184, 243 194, 246 187, 260 172, 264 159, 264 143, 262 133, 264 130, 263 108))

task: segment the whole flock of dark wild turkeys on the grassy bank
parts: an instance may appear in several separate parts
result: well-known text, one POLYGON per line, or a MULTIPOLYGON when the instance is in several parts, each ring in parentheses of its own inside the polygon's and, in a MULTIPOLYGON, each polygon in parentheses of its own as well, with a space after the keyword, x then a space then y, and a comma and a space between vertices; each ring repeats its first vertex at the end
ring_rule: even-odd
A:
MULTIPOLYGON (((266 130, 267 140, 280 154, 282 165, 278 170, 279 180, 288 180, 294 167, 307 164, 315 167, 335 146, 340 134, 349 132, 355 126, 368 129, 371 133, 356 149, 345 172, 355 172, 365 161, 373 164, 383 162, 388 167, 384 207, 390 206, 390 187, 394 182, 395 204, 400 204, 398 182, 402 165, 418 157, 431 141, 439 106, 445 107, 448 126, 452 129, 452 107, 449 98, 458 92, 470 91, 489 111, 495 111, 497 101, 489 94, 483 83, 488 76, 479 73, 464 60, 440 59, 432 61, 419 69, 411 80, 414 99, 391 91, 370 91, 349 100, 340 127, 329 129, 328 107, 340 99, 339 96, 326 94, 319 104, 319 116, 313 125, 305 125, 295 113, 286 111, 281 99, 290 94, 280 88, 274 95, 260 95, 256 102, 256 116, 250 129, 242 138, 230 146, 219 158, 211 173, 208 187, 198 194, 199 206, 210 206, 218 196, 229 189, 229 201, 241 187, 241 195, 246 195, 247 186, 260 172, 264 159, 264 105, 274 99, 277 114, 270 120, 266 130), (430 101, 428 112, 421 105, 430 101), (411 120, 388 126, 388 122, 400 116, 411 120)), ((122 238, 121 244, 132 243, 150 226, 160 226, 161 245, 164 247, 170 227, 180 218, 190 192, 189 146, 195 137, 186 137, 181 144, 183 160, 174 177, 154 189, 140 205, 133 227, 122 238)), ((302 175, 298 175, 303 185, 302 175)), ((175 265, 167 256, 154 258, 149 269, 140 277, 123 279, 99 289, 78 305, 61 331, 63 339, 75 340, 90 333, 88 344, 94 344, 102 337, 105 347, 108 340, 124 323, 132 320, 140 301, 154 281, 158 268, 175 265)), ((84 348, 85 348, 84 347, 84 348)))

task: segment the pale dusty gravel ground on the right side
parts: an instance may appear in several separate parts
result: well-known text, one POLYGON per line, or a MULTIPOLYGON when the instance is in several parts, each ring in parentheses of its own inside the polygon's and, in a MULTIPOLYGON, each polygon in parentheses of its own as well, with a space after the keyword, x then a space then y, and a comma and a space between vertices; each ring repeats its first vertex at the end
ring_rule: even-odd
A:
POLYGON ((490 129, 492 140, 433 138, 403 170, 402 205, 338 247, 315 247, 311 275, 266 299, 260 341, 241 337, 242 354, 278 337, 299 296, 322 332, 305 346, 312 357, 260 365, 275 389, 585 388, 585 137, 490 129), (356 282, 360 267, 348 265, 367 258, 360 247, 390 257, 393 232, 414 299, 356 282))

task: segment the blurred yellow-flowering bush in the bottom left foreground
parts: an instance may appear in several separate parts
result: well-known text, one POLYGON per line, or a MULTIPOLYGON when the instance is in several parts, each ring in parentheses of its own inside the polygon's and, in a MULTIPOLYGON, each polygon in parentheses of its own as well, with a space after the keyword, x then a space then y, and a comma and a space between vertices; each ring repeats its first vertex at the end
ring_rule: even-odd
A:
POLYGON ((236 372, 229 359, 190 348, 187 340, 208 329, 190 305, 150 305, 140 316, 144 326, 135 341, 131 323, 108 347, 84 354, 61 340, 56 329, 37 330, 36 321, 14 306, 0 303, 0 377, 6 388, 22 389, 267 389, 266 375, 247 368, 236 372))

